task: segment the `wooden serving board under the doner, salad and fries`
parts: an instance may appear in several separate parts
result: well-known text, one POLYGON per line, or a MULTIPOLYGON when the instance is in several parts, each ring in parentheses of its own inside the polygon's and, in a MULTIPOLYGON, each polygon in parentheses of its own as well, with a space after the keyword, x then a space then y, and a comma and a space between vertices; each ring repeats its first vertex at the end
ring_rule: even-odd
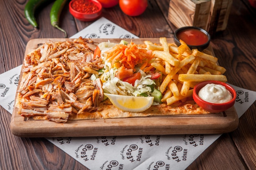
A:
MULTIPOLYGON (((38 45, 51 41, 67 39, 33 39, 27 43, 25 55, 38 45)), ((108 39, 92 39, 106 42, 108 39)), ((120 42, 112 39, 110 42, 120 42)), ((158 38, 132 39, 137 44, 144 40, 159 43, 158 38)), ((130 42, 130 40, 127 40, 130 42)), ((173 42, 168 39, 168 42, 173 42)), ((211 47, 209 47, 211 50, 211 47)), ((212 50, 211 50, 212 51, 212 50)), ((20 77, 21 80, 21 77, 20 77)), ((19 86, 18 86, 19 88, 19 86)), ((20 137, 89 137, 124 135, 176 135, 176 134, 214 134, 231 132, 238 127, 238 116, 233 107, 225 112, 210 115, 170 115, 152 117, 132 117, 116 119, 68 120, 56 123, 48 120, 33 120, 22 117, 13 109, 11 132, 20 137)))

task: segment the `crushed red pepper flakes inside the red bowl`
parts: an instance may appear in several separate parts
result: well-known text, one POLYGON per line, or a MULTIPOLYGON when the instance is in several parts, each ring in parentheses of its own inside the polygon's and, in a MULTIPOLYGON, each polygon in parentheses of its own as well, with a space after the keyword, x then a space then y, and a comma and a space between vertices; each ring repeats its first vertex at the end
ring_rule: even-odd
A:
POLYGON ((76 0, 71 4, 71 7, 81 13, 94 13, 99 10, 99 7, 88 0, 76 0))

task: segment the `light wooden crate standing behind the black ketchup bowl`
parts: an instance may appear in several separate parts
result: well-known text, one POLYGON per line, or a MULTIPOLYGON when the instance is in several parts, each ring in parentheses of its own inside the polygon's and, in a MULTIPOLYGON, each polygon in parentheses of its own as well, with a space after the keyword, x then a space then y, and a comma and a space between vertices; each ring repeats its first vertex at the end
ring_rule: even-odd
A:
POLYGON ((211 35, 223 31, 233 0, 170 0, 168 20, 177 28, 198 26, 211 35))

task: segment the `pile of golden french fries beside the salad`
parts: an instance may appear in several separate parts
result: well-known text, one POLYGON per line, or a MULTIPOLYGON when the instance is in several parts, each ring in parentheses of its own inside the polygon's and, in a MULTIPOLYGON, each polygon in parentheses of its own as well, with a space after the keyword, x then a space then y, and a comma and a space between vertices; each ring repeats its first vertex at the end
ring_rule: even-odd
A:
POLYGON ((216 80, 227 82, 223 75, 226 69, 217 64, 218 58, 210 51, 191 50, 180 40, 181 45, 168 43, 166 38, 159 38, 160 44, 144 41, 148 50, 152 50, 156 57, 151 66, 163 73, 159 90, 163 94, 162 102, 171 105, 178 101, 185 101, 193 94, 193 87, 202 81, 216 80))

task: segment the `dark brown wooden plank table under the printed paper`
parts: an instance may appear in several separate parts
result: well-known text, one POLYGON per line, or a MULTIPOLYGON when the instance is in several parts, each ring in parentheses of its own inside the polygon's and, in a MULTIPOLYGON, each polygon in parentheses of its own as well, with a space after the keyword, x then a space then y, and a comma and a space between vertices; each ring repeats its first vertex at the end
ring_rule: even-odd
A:
MULTIPOLYGON (((50 24, 52 4, 36 11, 39 29, 25 19, 27 0, 0 1, 0 73, 22 64, 26 44, 34 38, 63 38, 50 24)), ((140 38, 173 37, 167 19, 169 0, 149 0, 143 15, 129 17, 119 6, 104 9, 102 16, 140 38)), ((74 20, 68 5, 61 14, 60 26, 72 36, 92 22, 74 20)), ((227 29, 212 38, 211 45, 221 66, 227 68, 229 83, 256 91, 256 9, 247 0, 234 0, 227 29)), ((256 104, 240 117, 234 132, 221 135, 187 170, 256 169, 256 104)), ((0 169, 88 170, 45 138, 21 138, 10 132, 11 114, 0 107, 0 169)))

